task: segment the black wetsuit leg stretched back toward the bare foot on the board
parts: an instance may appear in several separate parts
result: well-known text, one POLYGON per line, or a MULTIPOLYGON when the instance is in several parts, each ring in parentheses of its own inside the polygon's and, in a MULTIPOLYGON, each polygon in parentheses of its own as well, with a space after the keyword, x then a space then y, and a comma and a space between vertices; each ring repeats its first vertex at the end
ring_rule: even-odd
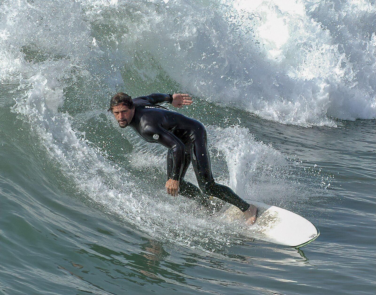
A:
POLYGON ((225 185, 215 183, 212 171, 205 127, 196 132, 192 145, 191 160, 200 189, 204 194, 217 197, 227 203, 237 206, 243 212, 249 204, 225 185))

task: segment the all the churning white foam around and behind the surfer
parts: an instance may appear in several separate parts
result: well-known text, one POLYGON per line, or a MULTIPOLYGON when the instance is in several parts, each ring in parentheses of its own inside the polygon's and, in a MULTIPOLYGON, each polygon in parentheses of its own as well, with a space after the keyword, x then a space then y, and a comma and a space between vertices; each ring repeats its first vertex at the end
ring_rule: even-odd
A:
MULTIPOLYGON (((151 191, 131 164, 111 162, 86 138, 85 121, 76 124, 82 128, 73 122, 102 118, 114 130, 102 111, 108 97, 155 88, 185 89, 285 124, 374 118, 374 5, 337 3, 324 15, 328 8, 320 2, 242 3, 5 1, 0 80, 13 89, 12 111, 27 118, 74 185, 109 212, 160 239, 193 247, 204 241, 208 249, 225 245, 235 225, 199 210, 192 216, 192 204, 151 191), (347 15, 355 9, 359 18, 353 20, 347 15)), ((271 188, 273 179, 279 192, 290 188, 277 172, 288 169, 285 155, 244 127, 208 130, 211 154, 227 166, 215 175, 218 181, 246 199, 265 183, 271 188), (257 186, 252 179, 260 172, 270 181, 257 186)), ((142 146, 136 140, 133 151, 142 146)), ((146 156, 164 170, 160 149, 146 156)), ((192 171, 188 177, 194 179, 192 171)))

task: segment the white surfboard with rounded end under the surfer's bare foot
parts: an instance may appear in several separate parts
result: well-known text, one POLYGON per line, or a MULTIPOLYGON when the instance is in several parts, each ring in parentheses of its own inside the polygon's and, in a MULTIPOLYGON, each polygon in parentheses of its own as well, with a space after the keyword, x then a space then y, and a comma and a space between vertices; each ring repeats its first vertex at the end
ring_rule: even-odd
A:
MULTIPOLYGON (((299 248, 320 235, 315 225, 300 215, 256 201, 249 203, 258 210, 256 222, 242 233, 249 238, 299 248)), ((224 205, 221 213, 228 222, 244 220, 243 212, 231 204, 224 205)))

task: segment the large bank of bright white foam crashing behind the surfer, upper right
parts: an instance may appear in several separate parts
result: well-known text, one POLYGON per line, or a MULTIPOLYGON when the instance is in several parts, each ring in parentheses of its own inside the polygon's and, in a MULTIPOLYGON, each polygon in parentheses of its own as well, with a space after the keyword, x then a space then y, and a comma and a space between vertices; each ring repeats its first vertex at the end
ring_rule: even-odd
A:
POLYGON ((116 27, 113 50, 141 79, 163 70, 193 94, 286 124, 375 118, 370 2, 157 2, 88 12, 116 27))

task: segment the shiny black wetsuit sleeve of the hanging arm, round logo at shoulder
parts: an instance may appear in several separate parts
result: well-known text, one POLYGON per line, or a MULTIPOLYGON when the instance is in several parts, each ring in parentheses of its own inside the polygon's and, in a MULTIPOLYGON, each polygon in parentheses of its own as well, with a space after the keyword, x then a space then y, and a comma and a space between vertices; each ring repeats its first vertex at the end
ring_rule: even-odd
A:
POLYGON ((185 158, 185 145, 171 132, 163 128, 148 130, 144 133, 152 141, 167 147, 172 152, 173 168, 171 179, 179 180, 182 174, 185 158))

